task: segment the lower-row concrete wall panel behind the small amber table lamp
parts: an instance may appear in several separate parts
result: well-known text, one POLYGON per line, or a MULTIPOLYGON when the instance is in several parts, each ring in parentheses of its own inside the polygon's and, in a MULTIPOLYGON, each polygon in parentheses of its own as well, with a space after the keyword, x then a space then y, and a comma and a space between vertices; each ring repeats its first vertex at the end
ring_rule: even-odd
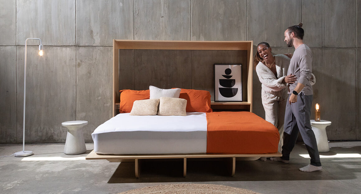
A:
POLYGON ((311 119, 318 103, 321 119, 332 122, 326 130, 330 140, 356 139, 356 49, 313 49, 313 56, 311 119))

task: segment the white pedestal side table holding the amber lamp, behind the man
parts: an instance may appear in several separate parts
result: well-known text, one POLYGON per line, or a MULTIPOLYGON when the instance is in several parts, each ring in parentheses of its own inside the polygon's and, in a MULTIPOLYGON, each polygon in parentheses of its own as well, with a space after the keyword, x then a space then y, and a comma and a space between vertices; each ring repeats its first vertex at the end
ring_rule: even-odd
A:
POLYGON ((326 134, 326 127, 331 125, 331 121, 321 120, 315 121, 310 120, 313 133, 315 134, 318 152, 328 152, 330 151, 329 148, 329 141, 327 140, 326 134))

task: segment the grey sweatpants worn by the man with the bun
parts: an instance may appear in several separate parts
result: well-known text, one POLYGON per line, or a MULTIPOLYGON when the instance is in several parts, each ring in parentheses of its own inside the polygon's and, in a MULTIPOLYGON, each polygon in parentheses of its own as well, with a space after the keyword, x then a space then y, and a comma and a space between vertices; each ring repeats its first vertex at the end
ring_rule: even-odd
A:
POLYGON ((284 115, 284 140, 282 146, 282 159, 290 160, 290 153, 295 147, 297 136, 301 133, 311 158, 311 165, 321 166, 315 134, 311 128, 310 114, 313 95, 297 95, 297 102, 290 103, 288 95, 286 112, 284 115))

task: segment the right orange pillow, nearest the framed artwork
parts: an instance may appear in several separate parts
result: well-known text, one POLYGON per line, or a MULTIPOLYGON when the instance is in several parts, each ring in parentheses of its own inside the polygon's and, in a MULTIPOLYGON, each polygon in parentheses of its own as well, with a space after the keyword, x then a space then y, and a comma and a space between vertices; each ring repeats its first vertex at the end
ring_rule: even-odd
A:
POLYGON ((186 112, 212 112, 209 91, 181 89, 179 98, 187 100, 186 112))

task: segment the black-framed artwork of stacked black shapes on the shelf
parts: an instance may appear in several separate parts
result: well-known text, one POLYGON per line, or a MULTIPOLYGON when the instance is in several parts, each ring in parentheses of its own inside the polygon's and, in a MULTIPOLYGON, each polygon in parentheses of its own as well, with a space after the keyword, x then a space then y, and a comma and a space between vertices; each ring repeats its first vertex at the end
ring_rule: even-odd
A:
POLYGON ((214 64, 214 101, 242 101, 241 64, 214 64))

